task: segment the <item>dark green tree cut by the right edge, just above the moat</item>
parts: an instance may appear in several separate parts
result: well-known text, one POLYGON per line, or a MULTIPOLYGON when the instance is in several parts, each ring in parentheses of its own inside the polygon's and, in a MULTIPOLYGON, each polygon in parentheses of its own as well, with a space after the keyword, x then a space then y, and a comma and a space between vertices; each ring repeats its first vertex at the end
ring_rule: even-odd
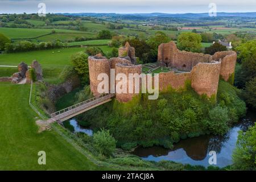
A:
POLYGON ((245 97, 246 103, 256 109, 256 77, 254 77, 249 82, 246 82, 243 96, 245 97))

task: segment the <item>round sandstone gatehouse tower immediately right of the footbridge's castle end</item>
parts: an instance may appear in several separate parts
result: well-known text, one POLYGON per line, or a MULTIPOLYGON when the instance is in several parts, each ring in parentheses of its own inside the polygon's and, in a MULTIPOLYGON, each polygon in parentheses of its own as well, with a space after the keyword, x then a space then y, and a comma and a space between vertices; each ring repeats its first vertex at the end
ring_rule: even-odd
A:
MULTIPOLYGON (((118 63, 118 64, 115 64, 116 79, 118 79, 118 73, 123 73, 122 75, 126 76, 126 79, 120 78, 120 80, 115 81, 115 86, 116 86, 115 96, 119 102, 129 102, 133 99, 134 96, 138 95, 138 93, 135 93, 135 84, 136 84, 135 78, 132 78, 133 85, 129 85, 129 73, 133 73, 133 74, 137 73, 138 75, 141 75, 142 65, 118 63), (129 93, 129 86, 133 88, 132 93, 129 93), (121 88, 125 92, 118 93, 117 88, 121 88)), ((138 79, 139 79, 139 90, 141 90, 141 79, 140 78, 138 79)))

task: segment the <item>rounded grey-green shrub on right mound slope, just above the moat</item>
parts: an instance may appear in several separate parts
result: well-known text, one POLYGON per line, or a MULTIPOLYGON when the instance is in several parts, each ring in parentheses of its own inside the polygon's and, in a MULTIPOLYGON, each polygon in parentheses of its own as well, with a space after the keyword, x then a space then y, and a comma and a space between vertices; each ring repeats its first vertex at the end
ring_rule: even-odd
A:
POLYGON ((207 125, 213 134, 224 135, 229 129, 228 122, 228 109, 226 107, 216 106, 209 111, 207 125))

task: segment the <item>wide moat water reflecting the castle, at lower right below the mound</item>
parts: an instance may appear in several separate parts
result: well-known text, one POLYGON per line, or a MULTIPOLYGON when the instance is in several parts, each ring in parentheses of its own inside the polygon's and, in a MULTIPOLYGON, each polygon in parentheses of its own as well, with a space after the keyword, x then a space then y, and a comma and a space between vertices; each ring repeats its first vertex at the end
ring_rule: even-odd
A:
POLYGON ((256 122, 255 113, 248 112, 241 122, 233 126, 223 137, 203 135, 196 138, 181 140, 172 150, 163 147, 138 147, 133 154, 141 156, 145 160, 172 160, 183 164, 210 166, 209 151, 216 151, 218 167, 232 164, 232 153, 236 147, 238 131, 246 131, 256 122))

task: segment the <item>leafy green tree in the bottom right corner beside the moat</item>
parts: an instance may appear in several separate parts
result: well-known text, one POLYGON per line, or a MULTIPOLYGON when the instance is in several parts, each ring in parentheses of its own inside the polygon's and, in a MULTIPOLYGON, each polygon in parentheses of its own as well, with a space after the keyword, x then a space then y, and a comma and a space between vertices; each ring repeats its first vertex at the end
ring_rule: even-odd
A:
POLYGON ((236 149, 233 152, 233 169, 256 169, 256 126, 250 127, 246 132, 238 134, 236 149))

